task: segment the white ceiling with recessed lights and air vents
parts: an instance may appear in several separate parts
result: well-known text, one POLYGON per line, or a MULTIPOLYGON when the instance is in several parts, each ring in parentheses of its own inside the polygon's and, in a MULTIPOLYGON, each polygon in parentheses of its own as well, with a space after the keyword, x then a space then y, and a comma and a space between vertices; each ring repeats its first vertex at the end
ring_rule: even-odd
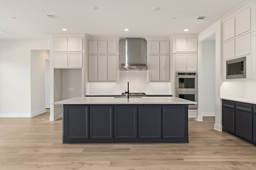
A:
POLYGON ((63 33, 105 37, 198 34, 245 1, 0 0, 0 39, 46 39, 49 34, 63 33), (90 6, 99 9, 91 10, 90 6), (160 10, 154 11, 153 7, 160 10), (51 14, 60 19, 46 16, 51 14), (196 21, 198 16, 208 18, 196 21), (129 31, 124 31, 125 28, 129 31))

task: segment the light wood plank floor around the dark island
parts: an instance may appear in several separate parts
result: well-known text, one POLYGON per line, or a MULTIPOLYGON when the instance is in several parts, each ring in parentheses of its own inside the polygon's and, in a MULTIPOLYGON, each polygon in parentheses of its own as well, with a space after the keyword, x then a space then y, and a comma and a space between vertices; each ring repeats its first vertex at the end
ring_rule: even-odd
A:
POLYGON ((214 130, 214 117, 189 121, 189 143, 62 144, 49 115, 0 118, 0 169, 256 169, 256 146, 214 130))

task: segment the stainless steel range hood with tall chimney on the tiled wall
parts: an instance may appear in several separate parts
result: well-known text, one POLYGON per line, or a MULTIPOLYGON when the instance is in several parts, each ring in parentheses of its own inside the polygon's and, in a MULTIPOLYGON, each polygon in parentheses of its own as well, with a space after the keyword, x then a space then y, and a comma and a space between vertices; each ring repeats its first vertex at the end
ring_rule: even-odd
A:
POLYGON ((147 66, 141 59, 141 38, 125 39, 125 64, 121 64, 121 70, 146 70, 147 66))

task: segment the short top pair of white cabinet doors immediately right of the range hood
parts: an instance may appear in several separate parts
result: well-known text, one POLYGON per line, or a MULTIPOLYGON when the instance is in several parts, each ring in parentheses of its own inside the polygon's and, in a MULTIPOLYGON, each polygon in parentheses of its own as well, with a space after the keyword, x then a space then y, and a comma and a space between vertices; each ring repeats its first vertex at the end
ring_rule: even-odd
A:
POLYGON ((148 54, 169 54, 169 41, 148 41, 148 54))

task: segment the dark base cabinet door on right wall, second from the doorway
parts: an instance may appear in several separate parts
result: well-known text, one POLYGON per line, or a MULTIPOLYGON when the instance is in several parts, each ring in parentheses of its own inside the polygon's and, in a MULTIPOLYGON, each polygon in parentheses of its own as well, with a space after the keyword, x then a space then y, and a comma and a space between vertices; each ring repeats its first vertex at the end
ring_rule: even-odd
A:
POLYGON ((236 110, 236 135, 252 141, 252 113, 236 110))

